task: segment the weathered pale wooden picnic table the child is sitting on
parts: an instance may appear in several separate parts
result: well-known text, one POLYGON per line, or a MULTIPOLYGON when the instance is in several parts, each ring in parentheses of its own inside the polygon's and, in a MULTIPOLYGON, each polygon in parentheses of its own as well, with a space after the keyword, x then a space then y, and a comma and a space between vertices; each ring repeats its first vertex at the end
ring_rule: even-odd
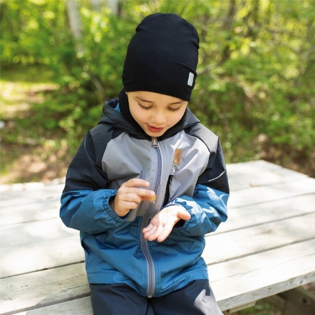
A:
MULTIPOLYGON (((314 282, 315 179, 265 161, 227 170, 229 219, 203 254, 221 310, 314 282)), ((59 219, 63 181, 0 190, 0 314, 92 314, 79 232, 59 219)))

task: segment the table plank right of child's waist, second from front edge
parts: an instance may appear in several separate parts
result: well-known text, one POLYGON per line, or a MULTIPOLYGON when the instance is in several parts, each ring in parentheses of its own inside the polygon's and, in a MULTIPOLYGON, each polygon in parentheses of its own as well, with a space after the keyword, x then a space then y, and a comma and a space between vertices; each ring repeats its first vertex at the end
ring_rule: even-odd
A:
POLYGON ((206 236, 208 265, 315 238, 315 213, 206 236))

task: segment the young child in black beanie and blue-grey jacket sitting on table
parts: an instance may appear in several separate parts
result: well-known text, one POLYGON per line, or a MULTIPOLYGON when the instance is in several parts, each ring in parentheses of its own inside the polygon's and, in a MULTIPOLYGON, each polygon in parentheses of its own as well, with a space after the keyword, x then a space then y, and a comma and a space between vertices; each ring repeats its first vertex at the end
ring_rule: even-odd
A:
POLYGON ((201 254, 229 187, 218 137, 187 108, 198 50, 176 14, 143 19, 124 89, 68 169, 60 216, 81 231, 94 315, 222 314, 201 254))

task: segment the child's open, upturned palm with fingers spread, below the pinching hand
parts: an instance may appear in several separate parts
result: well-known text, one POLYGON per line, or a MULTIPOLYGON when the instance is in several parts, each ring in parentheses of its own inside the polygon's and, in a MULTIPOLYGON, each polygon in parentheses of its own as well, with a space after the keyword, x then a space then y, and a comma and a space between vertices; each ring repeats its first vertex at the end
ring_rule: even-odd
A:
POLYGON ((190 219, 190 214, 185 208, 180 205, 165 207, 153 217, 148 227, 142 230, 144 238, 148 241, 163 242, 180 219, 185 221, 190 219))

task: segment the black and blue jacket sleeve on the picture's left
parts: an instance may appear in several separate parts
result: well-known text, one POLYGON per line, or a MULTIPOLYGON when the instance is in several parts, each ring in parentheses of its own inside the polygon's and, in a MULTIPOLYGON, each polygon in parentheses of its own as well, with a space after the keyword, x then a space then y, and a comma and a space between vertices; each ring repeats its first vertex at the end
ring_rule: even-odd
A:
POLYGON ((108 177, 101 169, 107 141, 97 133, 109 134, 98 125, 85 136, 68 168, 60 209, 66 226, 90 234, 104 232, 128 219, 119 218, 109 205, 116 190, 108 189, 108 177))

